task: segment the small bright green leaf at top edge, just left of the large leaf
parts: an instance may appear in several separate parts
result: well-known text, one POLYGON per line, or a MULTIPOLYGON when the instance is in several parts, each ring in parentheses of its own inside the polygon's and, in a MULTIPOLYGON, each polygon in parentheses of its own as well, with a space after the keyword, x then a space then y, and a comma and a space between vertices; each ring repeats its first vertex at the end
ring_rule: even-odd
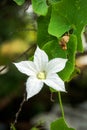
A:
POLYGON ((48 5, 46 0, 32 0, 32 5, 35 13, 39 15, 46 15, 48 12, 48 5))

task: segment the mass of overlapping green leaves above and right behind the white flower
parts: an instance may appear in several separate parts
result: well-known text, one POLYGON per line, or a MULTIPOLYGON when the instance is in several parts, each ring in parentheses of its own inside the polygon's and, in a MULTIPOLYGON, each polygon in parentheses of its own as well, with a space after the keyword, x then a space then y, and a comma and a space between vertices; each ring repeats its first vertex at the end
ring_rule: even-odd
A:
POLYGON ((38 18, 37 43, 47 52, 50 59, 55 57, 68 59, 66 67, 59 73, 64 81, 68 81, 75 69, 75 53, 83 50, 81 33, 87 23, 87 14, 84 13, 87 10, 85 5, 87 1, 49 2, 52 8, 49 7, 46 16, 38 18), (70 32, 70 40, 67 50, 62 50, 58 42, 66 32, 70 32))

